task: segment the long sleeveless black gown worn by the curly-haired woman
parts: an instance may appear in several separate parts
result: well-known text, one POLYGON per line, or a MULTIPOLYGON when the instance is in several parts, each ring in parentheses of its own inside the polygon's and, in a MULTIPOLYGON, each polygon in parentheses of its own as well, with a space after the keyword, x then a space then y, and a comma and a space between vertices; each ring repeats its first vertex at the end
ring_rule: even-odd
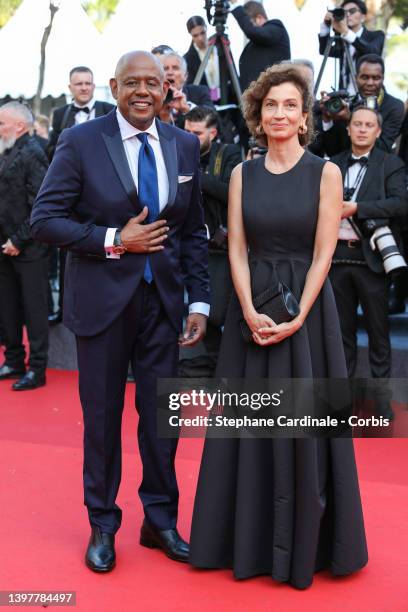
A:
MULTIPOLYGON (((311 264, 324 161, 306 151, 283 174, 259 157, 242 168, 252 295, 277 279, 300 299, 311 264)), ((336 304, 326 280, 305 324, 269 347, 243 341, 234 292, 217 377, 346 378, 336 304)), ((345 575, 367 563, 353 442, 207 439, 195 499, 190 563, 268 574, 306 588, 313 574, 345 575)))

